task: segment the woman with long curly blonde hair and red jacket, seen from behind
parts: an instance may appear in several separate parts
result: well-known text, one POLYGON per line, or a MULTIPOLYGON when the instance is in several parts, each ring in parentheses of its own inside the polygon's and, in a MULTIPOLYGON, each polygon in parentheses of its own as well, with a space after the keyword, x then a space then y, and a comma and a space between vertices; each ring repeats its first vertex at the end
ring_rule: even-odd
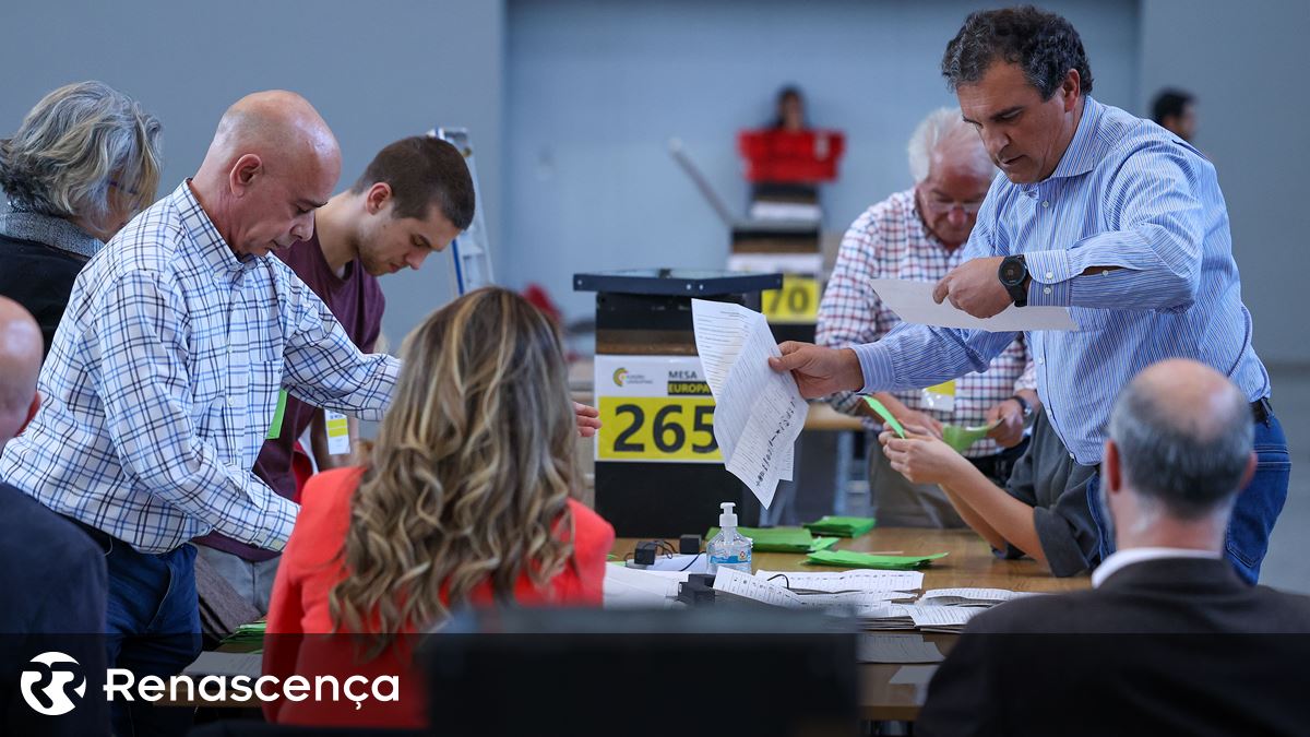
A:
POLYGON ((460 606, 600 605, 614 531, 575 501, 578 424, 550 320, 482 289, 430 316, 402 358, 367 467, 305 487, 272 589, 265 671, 339 673, 342 648, 276 633, 351 632, 368 635, 362 657, 350 648, 351 673, 410 678, 393 708, 279 702, 265 706, 270 721, 422 724, 396 635, 460 606))

